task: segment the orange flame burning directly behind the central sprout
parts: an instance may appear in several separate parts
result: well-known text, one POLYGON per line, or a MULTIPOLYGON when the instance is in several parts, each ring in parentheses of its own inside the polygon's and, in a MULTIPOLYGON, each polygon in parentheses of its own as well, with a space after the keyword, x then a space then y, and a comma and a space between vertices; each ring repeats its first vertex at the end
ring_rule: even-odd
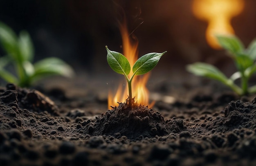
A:
MULTIPOLYGON (((128 78, 130 78, 133 74, 132 72, 132 66, 138 59, 138 41, 131 43, 130 41, 130 35, 128 34, 126 23, 123 25, 120 25, 120 32, 122 36, 122 42, 123 42, 123 54, 128 59, 130 65, 131 65, 131 71, 128 75, 128 78)), ((148 96, 149 91, 146 88, 146 83, 148 82, 148 78, 150 76, 150 73, 145 74, 144 76, 135 76, 132 79, 132 97, 135 97, 135 101, 138 101, 138 103, 141 103, 143 105, 148 105, 149 107, 152 107, 154 103, 148 102, 148 96)), ((115 106, 117 105, 117 102, 124 102, 128 98, 128 85, 124 86, 124 83, 120 83, 119 87, 117 89, 117 92, 115 95, 112 94, 112 92, 109 92, 108 94, 108 105, 109 106, 115 106)))

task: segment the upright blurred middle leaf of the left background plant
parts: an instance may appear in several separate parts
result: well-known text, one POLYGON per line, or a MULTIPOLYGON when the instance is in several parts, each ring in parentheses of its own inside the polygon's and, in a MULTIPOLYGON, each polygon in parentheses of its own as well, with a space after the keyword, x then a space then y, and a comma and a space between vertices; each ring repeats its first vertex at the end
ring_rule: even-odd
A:
POLYGON ((34 56, 34 47, 33 47, 32 40, 29 34, 27 33, 27 31, 20 32, 20 38, 18 39, 18 46, 20 50, 19 59, 21 61, 31 62, 34 56))

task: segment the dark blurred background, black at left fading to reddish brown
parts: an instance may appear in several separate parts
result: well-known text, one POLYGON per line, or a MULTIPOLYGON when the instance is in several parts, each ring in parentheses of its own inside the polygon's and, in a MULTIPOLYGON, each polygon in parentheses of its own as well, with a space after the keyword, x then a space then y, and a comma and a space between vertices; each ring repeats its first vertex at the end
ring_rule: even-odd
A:
MULTIPOLYGON (((118 22, 126 16, 128 30, 139 41, 139 56, 167 51, 157 74, 184 72, 195 61, 209 62, 226 74, 231 59, 205 40, 207 22, 195 18, 193 0, 0 0, 0 20, 17 33, 29 31, 35 61, 62 58, 76 72, 113 73, 105 45, 122 52, 118 22), (143 23, 140 25, 140 23, 143 23), (164 69, 164 70, 163 70, 164 69)), ((256 37, 256 1, 245 0, 243 12, 232 19, 236 35, 247 46, 256 37)), ((2 53, 2 50, 1 50, 2 53)))

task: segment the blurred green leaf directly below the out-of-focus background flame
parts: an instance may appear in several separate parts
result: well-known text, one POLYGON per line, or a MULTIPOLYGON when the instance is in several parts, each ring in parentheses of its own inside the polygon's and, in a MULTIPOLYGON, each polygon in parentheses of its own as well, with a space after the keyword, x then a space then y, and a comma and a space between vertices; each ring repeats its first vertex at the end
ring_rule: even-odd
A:
POLYGON ((218 43, 230 52, 233 56, 236 56, 237 53, 241 53, 244 50, 243 43, 236 36, 216 36, 218 43))

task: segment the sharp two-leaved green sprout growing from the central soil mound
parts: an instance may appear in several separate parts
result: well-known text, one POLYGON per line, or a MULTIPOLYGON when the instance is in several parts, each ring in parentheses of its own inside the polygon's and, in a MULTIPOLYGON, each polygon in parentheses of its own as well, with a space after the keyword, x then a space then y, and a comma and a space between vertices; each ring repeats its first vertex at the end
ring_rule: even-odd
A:
POLYGON ((146 74, 150 70, 152 70, 158 63, 159 59, 163 53, 148 53, 144 56, 141 56, 132 67, 132 76, 128 78, 128 74, 130 73, 131 67, 128 59, 119 52, 110 51, 108 47, 107 49, 107 61, 108 65, 117 72, 118 74, 124 74, 127 83, 128 83, 128 91, 129 91, 129 106, 132 107, 132 79, 135 75, 146 74))

